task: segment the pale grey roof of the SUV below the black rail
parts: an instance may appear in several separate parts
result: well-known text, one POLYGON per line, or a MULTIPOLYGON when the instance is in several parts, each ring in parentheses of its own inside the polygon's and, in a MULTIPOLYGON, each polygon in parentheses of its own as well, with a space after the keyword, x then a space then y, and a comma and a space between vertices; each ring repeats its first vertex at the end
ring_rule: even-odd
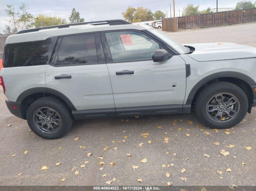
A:
MULTIPOLYGON (((58 25, 60 26, 60 25, 58 25)), ((58 27, 56 26, 56 27, 58 27)), ((43 30, 38 30, 35 32, 26 32, 15 35, 10 35, 5 44, 11 43, 21 43, 29 41, 45 40, 49 37, 68 35, 68 34, 78 34, 87 32, 97 32, 105 30, 121 30, 121 29, 135 29, 135 30, 145 30, 148 26, 136 25, 136 24, 122 24, 122 25, 92 25, 92 24, 81 24, 81 25, 71 25, 69 27, 58 27, 58 28, 47 28, 43 30)))

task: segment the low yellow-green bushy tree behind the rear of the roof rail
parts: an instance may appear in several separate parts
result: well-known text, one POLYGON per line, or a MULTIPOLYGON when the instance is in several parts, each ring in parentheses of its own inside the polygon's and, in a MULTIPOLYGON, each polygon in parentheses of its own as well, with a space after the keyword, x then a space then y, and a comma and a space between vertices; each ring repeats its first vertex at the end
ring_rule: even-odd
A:
POLYGON ((65 19, 55 17, 55 16, 46 16, 43 14, 38 15, 38 17, 35 18, 35 25, 37 27, 47 27, 52 25, 60 25, 60 24, 67 24, 67 21, 65 19))

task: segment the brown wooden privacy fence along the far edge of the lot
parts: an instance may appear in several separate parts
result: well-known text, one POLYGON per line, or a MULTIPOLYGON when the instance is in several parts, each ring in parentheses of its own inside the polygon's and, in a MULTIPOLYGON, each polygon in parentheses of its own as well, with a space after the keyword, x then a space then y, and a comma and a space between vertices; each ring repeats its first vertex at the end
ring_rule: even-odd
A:
POLYGON ((165 18, 162 19, 162 30, 175 32, 179 29, 210 27, 251 21, 256 21, 256 8, 165 18))

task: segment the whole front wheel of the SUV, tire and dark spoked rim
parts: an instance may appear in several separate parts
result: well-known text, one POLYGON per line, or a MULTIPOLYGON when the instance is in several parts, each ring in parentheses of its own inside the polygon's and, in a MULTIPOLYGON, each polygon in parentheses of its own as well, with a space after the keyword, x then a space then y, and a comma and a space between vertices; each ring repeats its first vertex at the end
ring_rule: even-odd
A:
POLYGON ((244 119, 247 110, 246 94, 229 82, 215 82, 206 86, 200 91, 195 102, 195 112, 199 120, 213 129, 227 129, 237 125, 244 119), (229 115, 227 112, 230 112, 229 115))

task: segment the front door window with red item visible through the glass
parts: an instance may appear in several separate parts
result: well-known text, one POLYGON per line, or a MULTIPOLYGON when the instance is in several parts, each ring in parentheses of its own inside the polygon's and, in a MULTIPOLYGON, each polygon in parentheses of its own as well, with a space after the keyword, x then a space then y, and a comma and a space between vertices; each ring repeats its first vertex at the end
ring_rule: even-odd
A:
POLYGON ((105 33, 113 62, 151 60, 159 44, 146 35, 134 32, 105 33))

